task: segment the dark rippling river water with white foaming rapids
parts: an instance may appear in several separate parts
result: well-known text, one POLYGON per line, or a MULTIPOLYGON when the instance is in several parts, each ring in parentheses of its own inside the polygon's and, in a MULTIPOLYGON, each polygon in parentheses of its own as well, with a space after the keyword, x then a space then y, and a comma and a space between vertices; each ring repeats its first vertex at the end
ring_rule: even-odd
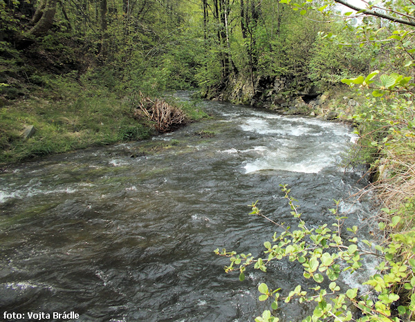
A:
MULTIPOLYGON (((243 282, 224 273, 229 261, 214 249, 261 256, 277 230, 247 205, 259 200, 266 216, 296 225, 279 187, 288 184, 311 227, 334 222, 333 199, 353 225, 367 216, 369 202, 349 198, 359 176, 337 167, 349 126, 203 104, 212 119, 149 142, 0 175, 0 320, 75 312, 77 321, 253 321, 270 305, 257 301, 259 283, 284 294, 306 281, 288 261, 243 282), (156 147, 143 153, 143 144, 156 147)), ((275 313, 301 321, 309 310, 282 303, 275 313)))

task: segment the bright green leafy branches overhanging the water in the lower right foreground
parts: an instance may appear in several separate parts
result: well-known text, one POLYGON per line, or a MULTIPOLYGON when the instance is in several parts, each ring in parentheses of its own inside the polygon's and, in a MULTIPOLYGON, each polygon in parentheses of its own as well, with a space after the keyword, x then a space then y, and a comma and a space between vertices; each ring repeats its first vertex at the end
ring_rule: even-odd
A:
MULTIPOLYGON (((280 295, 280 288, 273 290, 265 283, 259 285, 258 291, 259 301, 273 300, 272 310, 277 310, 281 300, 285 303, 293 299, 297 299, 299 303, 316 303, 313 314, 303 321, 351 321, 353 314, 349 309, 350 304, 362 312, 363 317, 356 321, 400 321, 398 316, 403 318, 412 316, 415 309, 415 232, 396 234, 387 246, 373 245, 369 240, 359 240, 357 226, 347 228, 352 235, 345 238, 340 229, 345 217, 338 214, 338 209, 330 209, 337 218, 337 222, 332 225, 335 229, 330 229, 327 224, 309 229, 306 227, 306 222, 300 218, 299 206, 294 203, 297 200, 289 194, 291 190, 286 185, 282 185, 282 191, 291 206, 291 214, 299 220, 297 225, 299 229, 286 227, 280 234, 276 232, 272 243, 270 241, 264 243, 264 254, 268 256, 265 258, 255 258, 252 254, 226 252, 225 249, 219 252, 219 249, 216 249, 216 254, 230 258, 231 264, 225 267, 225 272, 239 269, 239 279, 243 281, 246 269, 252 264, 254 269, 263 272, 266 272, 268 263, 283 258, 302 264, 304 278, 313 279, 317 283, 315 287, 303 290, 302 285, 297 285, 285 297, 280 295), (359 242, 366 244, 369 250, 359 248, 359 242), (371 249, 375 249, 376 252, 372 252, 371 249), (363 283, 370 285, 371 291, 367 294, 359 294, 357 288, 342 290, 335 281, 342 272, 363 269, 363 256, 381 258, 380 264, 376 267, 378 273, 363 283), (322 283, 326 280, 330 282, 327 289, 322 287, 322 283), (391 309, 392 304, 398 306, 396 312, 391 309)), ((338 205, 339 201, 335 203, 338 205)), ((251 214, 260 213, 257 202, 251 206, 251 214)), ((264 215, 262 217, 266 218, 264 215)), ((380 229, 394 227, 399 221, 400 218, 395 216, 390 223, 380 225, 380 229)), ((283 225, 279 226, 283 227, 283 225)), ((279 321, 279 319, 273 316, 270 310, 266 310, 255 321, 279 321)))

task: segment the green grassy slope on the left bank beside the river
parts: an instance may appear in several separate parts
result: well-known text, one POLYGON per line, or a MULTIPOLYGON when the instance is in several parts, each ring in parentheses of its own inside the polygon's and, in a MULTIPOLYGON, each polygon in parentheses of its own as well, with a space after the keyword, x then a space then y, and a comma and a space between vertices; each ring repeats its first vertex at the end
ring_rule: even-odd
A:
MULTIPOLYGON (((73 79, 48 79, 29 99, 0 108, 0 164, 148 138, 153 126, 133 117, 137 102, 131 97, 73 79), (30 125, 36 132, 24 140, 21 133, 30 125)), ((205 115, 192 104, 183 109, 192 120, 205 115)))

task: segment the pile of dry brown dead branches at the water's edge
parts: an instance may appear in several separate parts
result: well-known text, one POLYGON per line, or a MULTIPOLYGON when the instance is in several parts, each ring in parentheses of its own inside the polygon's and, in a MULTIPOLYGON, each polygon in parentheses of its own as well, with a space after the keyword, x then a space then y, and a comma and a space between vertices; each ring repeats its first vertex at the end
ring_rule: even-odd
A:
POLYGON ((147 117, 154 122, 154 127, 160 133, 174 131, 174 129, 189 122, 181 108, 172 106, 165 100, 151 100, 150 97, 144 97, 144 95, 141 95, 140 103, 134 115, 136 117, 142 117, 143 115, 147 117))

